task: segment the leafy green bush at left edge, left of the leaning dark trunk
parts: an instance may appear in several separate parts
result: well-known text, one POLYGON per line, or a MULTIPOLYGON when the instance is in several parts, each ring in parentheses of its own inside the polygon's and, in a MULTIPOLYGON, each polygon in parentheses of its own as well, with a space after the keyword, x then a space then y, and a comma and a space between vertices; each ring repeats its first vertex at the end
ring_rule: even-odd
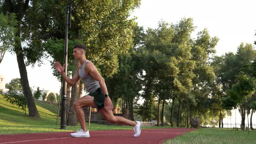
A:
POLYGON ((23 111, 25 111, 26 115, 26 99, 23 95, 23 93, 17 93, 16 91, 8 91, 6 93, 1 93, 3 95, 3 98, 6 98, 8 102, 11 104, 15 104, 18 107, 21 107, 23 111))

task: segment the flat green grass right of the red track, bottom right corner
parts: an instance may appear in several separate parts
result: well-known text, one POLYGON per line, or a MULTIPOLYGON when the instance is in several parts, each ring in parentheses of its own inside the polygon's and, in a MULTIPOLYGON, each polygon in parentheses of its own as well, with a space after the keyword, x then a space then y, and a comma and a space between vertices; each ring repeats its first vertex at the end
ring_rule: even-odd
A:
POLYGON ((255 144, 256 131, 235 131, 226 128, 200 128, 164 144, 255 144))

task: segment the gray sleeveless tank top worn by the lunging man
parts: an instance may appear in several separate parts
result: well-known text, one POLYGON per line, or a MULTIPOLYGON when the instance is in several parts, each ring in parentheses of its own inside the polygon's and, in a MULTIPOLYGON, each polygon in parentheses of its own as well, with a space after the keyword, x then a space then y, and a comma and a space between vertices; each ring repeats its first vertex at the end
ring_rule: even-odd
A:
POLYGON ((100 85, 98 81, 93 79, 91 75, 85 72, 85 65, 87 62, 90 62, 89 60, 86 60, 79 69, 79 77, 82 79, 83 83, 85 84, 85 88, 89 93, 95 92, 98 88, 100 88, 100 85))

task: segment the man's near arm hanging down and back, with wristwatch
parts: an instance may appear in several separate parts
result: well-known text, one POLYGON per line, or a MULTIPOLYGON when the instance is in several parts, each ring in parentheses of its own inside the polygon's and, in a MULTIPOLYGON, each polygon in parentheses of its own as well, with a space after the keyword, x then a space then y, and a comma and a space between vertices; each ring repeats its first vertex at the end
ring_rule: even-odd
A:
MULTIPOLYGON (((96 69, 95 65, 93 65, 92 62, 87 62, 85 65, 85 72, 88 72, 89 75, 93 77, 96 81, 98 81, 100 87, 102 88, 103 94, 108 94, 108 89, 105 84, 105 80, 102 78, 102 76, 99 74, 98 70, 96 69)), ((105 97, 104 105, 108 108, 108 110, 112 111, 113 105, 112 101, 109 98, 109 96, 105 97)))

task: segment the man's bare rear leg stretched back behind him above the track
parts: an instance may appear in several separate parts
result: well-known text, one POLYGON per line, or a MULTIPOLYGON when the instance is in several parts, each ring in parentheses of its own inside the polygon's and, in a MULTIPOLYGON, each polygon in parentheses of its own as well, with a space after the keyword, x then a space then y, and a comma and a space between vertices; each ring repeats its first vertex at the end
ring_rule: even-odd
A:
POLYGON ((104 118, 111 123, 126 124, 135 127, 137 125, 136 121, 131 121, 123 117, 114 116, 112 111, 109 111, 106 107, 100 109, 104 118))

